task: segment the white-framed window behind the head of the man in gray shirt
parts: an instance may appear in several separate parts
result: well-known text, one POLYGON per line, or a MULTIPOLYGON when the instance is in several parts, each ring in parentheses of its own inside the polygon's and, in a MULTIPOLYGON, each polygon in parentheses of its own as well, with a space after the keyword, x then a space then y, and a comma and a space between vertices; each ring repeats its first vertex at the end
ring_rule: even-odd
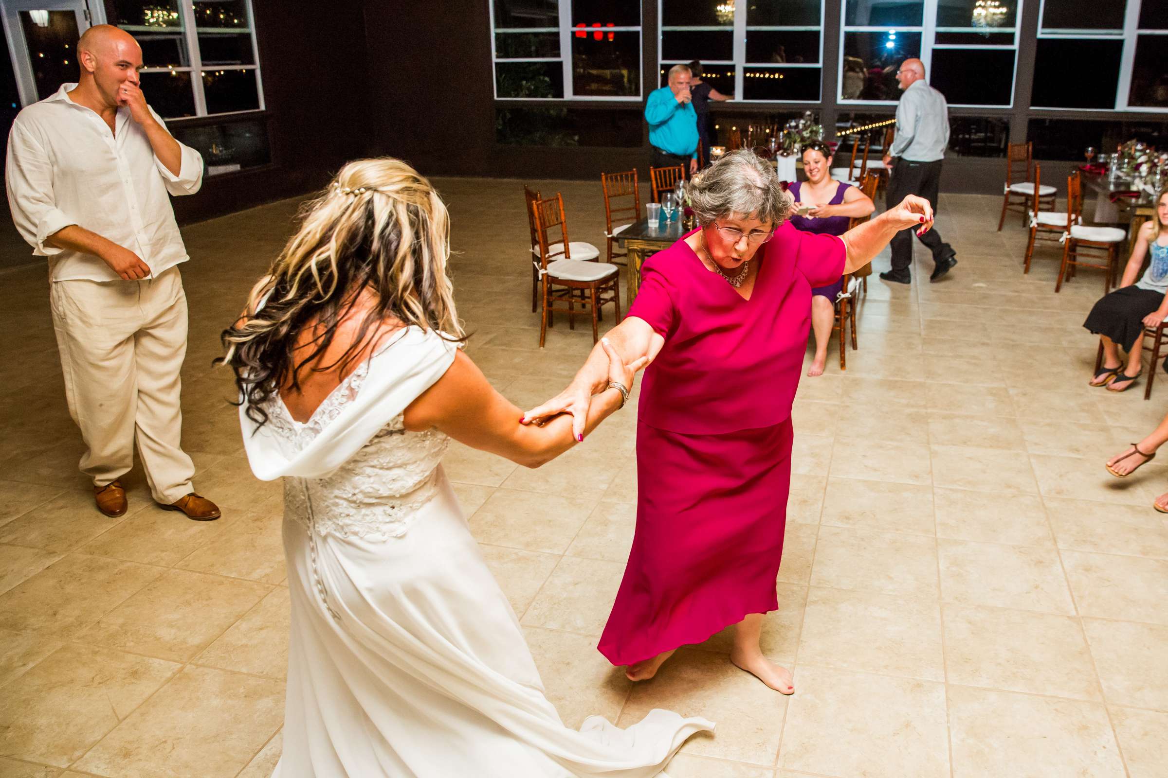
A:
POLYGON ((844 0, 839 97, 899 99, 896 71, 918 57, 950 105, 1009 107, 1021 0, 844 0))

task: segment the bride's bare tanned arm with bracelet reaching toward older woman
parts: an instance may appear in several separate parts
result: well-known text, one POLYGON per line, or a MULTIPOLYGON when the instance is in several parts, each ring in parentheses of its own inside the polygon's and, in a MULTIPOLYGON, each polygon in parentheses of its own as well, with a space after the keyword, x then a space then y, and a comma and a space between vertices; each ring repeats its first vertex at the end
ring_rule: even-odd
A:
POLYGON ((550 419, 543 426, 521 425, 520 409, 496 392, 461 351, 454 356, 450 370, 405 409, 405 428, 413 432, 436 428, 471 448, 537 468, 583 441, 586 433, 619 408, 620 391, 609 388, 610 381, 632 388, 637 371, 647 363, 644 358, 630 364, 621 362, 606 342, 598 348, 604 355, 604 372, 597 381, 598 390, 589 398, 586 418, 578 433, 573 420, 566 416, 550 419))

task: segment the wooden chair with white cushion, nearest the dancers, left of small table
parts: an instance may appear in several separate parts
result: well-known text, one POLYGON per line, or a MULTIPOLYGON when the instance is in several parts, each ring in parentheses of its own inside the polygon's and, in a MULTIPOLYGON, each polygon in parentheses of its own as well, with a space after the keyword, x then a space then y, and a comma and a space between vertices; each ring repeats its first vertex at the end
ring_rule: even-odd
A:
POLYGON ((620 323, 620 269, 616 265, 571 258, 572 244, 568 239, 564 201, 558 194, 534 202, 531 212, 535 217, 543 302, 540 317, 540 348, 542 349, 547 341, 548 328, 551 327, 556 311, 568 314, 568 328, 576 329, 576 316, 585 315, 583 310, 585 307, 592 317, 592 343, 596 343, 600 339, 597 329, 600 306, 613 303, 617 308, 617 323, 620 323), (557 237, 558 241, 552 243, 557 237), (566 248, 561 254, 554 253, 551 250, 557 245, 566 248), (586 304, 576 297, 577 292, 586 295, 586 304), (577 302, 580 303, 580 310, 576 310, 577 302))

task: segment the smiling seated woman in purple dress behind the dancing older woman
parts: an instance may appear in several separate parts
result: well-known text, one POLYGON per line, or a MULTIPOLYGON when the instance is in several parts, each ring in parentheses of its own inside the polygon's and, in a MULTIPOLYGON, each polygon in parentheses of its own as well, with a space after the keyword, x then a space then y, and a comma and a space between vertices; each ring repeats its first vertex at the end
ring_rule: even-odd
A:
MULTIPOLYGON (((804 173, 807 181, 791 184, 795 211, 791 225, 815 234, 843 234, 853 218, 864 217, 876 210, 868 195, 849 183, 832 177, 832 149, 814 141, 804 146, 804 173), (807 216, 799 211, 809 209, 807 216)), ((822 376, 827 364, 827 344, 832 339, 835 321, 835 299, 843 290, 843 279, 811 290, 811 329, 815 334, 815 359, 808 376, 822 376)))

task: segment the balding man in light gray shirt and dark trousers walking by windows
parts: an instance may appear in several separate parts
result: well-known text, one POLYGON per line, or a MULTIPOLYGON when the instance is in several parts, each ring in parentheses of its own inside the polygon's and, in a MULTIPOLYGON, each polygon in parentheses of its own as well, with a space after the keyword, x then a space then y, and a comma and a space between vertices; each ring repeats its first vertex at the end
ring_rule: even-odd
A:
MULTIPOLYGON (((904 94, 896 108, 896 140, 884 154, 884 164, 891 170, 888 202, 899 203, 905 195, 919 195, 937 211, 940 191, 941 163, 948 146, 948 105, 945 96, 925 83, 925 65, 920 59, 905 59, 896 73, 904 94)), ((936 269, 929 278, 936 281, 957 265, 957 252, 941 240, 937 230, 919 236, 920 243, 933 252, 936 269)), ((909 283, 912 280, 912 233, 902 230, 892 238, 892 269, 881 273, 885 281, 909 283)))

